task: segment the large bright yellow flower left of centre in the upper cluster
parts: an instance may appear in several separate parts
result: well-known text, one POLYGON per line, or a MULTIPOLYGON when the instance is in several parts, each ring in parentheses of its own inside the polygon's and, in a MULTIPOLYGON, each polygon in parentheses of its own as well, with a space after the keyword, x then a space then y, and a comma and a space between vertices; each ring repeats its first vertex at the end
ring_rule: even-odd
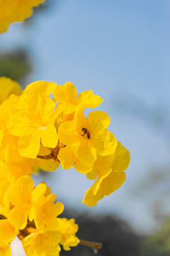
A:
MULTIPOLYGON (((40 143, 50 148, 57 146, 57 112, 55 102, 49 97, 35 94, 26 97, 25 101, 22 96, 13 96, 1 105, 2 110, 5 107, 8 107, 6 127, 8 132, 18 137, 18 150, 21 156, 35 159, 40 150, 40 143)), ((4 124, 4 121, 2 122, 4 124)))

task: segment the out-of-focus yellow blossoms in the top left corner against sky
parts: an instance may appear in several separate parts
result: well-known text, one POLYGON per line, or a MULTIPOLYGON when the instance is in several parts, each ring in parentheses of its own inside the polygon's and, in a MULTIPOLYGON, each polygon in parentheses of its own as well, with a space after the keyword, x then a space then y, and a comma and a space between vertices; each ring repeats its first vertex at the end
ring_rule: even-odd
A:
POLYGON ((15 21, 24 21, 33 14, 33 7, 45 0, 0 0, 0 33, 15 21))

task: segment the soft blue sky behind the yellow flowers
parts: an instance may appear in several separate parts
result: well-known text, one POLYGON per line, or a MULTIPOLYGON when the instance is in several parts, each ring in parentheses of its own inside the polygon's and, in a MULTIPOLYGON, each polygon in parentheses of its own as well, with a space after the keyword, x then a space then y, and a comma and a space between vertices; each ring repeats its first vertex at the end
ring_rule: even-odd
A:
POLYGON ((111 116, 110 130, 130 150, 131 164, 124 185, 96 208, 81 204, 90 181, 73 169, 52 173, 47 183, 68 206, 117 213, 147 231, 154 226, 148 210, 152 202, 136 199, 130 191, 147 179, 152 166, 169 164, 170 2, 50 3, 50 9, 33 16, 30 26, 11 25, 0 36, 1 51, 28 50, 34 63, 28 83, 69 80, 78 92, 93 89, 101 95, 98 110, 111 116))

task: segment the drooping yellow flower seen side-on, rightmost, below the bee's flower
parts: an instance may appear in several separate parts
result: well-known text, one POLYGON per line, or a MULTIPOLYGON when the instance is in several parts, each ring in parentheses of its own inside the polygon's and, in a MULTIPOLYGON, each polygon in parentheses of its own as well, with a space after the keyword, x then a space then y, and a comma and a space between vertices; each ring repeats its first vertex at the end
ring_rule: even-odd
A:
POLYGON ((130 163, 130 153, 118 142, 115 153, 103 156, 96 161, 94 170, 87 174, 89 178, 97 178, 94 185, 86 191, 84 200, 87 206, 96 206, 104 196, 118 189, 125 181, 125 170, 130 163))

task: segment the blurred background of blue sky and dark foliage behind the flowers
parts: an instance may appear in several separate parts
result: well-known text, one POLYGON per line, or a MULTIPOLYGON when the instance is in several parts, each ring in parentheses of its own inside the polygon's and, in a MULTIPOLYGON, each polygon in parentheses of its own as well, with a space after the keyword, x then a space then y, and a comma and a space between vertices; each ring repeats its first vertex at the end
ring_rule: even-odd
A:
MULTIPOLYGON (((127 180, 94 208, 91 186, 74 169, 33 176, 46 181, 77 218, 79 238, 103 242, 98 255, 170 255, 170 1, 46 0, 0 35, 0 76, 73 82, 103 97, 98 110, 131 154, 127 180)), ((24 255, 17 241, 13 256, 24 255)), ((94 255, 82 245, 61 255, 94 255)))

